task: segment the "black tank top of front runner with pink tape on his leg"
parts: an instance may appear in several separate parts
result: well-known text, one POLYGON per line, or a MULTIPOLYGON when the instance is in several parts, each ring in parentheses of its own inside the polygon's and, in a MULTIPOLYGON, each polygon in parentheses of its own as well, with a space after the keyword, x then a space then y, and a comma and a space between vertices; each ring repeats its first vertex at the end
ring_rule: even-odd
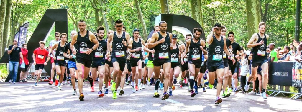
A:
POLYGON ((87 30, 87 33, 84 37, 80 35, 80 32, 78 32, 78 39, 76 41, 76 44, 78 44, 79 49, 77 49, 77 57, 78 58, 83 58, 83 59, 89 59, 92 60, 93 56, 90 53, 89 55, 86 54, 85 52, 88 51, 93 47, 93 42, 89 40, 89 31, 87 30))

